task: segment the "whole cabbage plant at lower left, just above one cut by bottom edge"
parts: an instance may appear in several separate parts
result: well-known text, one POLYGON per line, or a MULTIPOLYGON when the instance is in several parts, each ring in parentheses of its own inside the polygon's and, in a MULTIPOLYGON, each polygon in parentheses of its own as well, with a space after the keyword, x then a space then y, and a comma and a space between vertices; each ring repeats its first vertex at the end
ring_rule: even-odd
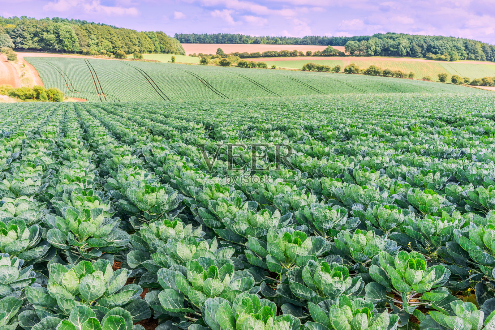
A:
POLYGON ((19 322, 25 328, 32 320, 43 322, 46 317, 70 319, 76 308, 91 310, 101 319, 121 307, 130 311, 132 322, 147 319, 151 313, 146 301, 140 298, 143 289, 134 283, 125 285, 130 274, 127 269, 113 271, 104 259, 93 264, 89 261, 70 265, 52 263, 47 287, 26 287, 32 309, 23 311, 19 322))

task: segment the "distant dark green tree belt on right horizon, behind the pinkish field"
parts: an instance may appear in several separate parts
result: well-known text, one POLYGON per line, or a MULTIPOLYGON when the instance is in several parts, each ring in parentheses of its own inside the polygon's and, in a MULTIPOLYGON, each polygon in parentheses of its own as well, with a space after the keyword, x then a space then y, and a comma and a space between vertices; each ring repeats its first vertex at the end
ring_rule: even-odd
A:
POLYGON ((480 41, 403 33, 377 33, 354 37, 252 37, 241 34, 175 34, 182 44, 272 44, 346 46, 350 53, 364 56, 426 57, 450 54, 458 59, 495 61, 495 46, 480 41))

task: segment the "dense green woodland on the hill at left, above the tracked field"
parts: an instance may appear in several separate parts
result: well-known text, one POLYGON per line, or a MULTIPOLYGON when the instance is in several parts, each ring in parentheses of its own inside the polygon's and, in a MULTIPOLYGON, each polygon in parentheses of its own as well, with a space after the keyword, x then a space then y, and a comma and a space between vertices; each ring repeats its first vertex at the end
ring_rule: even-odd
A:
POLYGON ((0 16, 0 47, 69 53, 173 53, 184 48, 163 32, 138 32, 82 20, 0 16))

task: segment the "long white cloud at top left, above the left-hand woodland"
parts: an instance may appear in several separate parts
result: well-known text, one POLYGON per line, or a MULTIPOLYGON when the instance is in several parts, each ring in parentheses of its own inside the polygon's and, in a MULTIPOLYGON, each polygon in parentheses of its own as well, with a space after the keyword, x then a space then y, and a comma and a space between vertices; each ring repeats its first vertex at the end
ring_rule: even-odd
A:
POLYGON ((83 10, 86 13, 98 13, 104 15, 130 15, 140 14, 136 7, 107 6, 101 4, 100 0, 56 0, 50 1, 43 6, 43 10, 65 12, 71 9, 83 10))

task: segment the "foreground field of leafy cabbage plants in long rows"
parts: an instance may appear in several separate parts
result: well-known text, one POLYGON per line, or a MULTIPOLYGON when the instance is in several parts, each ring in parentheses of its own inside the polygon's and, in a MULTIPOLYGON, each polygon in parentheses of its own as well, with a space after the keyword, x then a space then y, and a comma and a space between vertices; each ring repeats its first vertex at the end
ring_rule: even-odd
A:
POLYGON ((0 329, 494 329, 494 107, 0 104, 0 329))

